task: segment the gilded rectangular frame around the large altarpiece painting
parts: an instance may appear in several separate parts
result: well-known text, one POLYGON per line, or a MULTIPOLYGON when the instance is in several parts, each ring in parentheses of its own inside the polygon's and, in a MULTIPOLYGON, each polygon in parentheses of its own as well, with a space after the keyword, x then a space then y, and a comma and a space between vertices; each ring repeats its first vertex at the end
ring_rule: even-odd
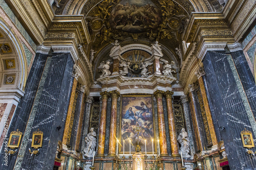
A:
MULTIPOLYGON (((121 128, 122 128, 122 101, 123 101, 123 98, 124 97, 151 97, 151 104, 152 104, 152 115, 153 115, 153 124, 154 124, 154 155, 157 154, 157 138, 156 138, 156 124, 155 124, 155 110, 154 110, 154 100, 153 100, 153 95, 152 94, 123 94, 121 95, 121 100, 120 100, 120 117, 119 117, 119 138, 118 138, 118 141, 119 141, 119 147, 118 147, 118 154, 122 155, 123 154, 123 150, 121 150, 121 145, 123 144, 123 141, 122 141, 122 132, 121 132, 121 128)), ((150 142, 150 146, 152 146, 152 141, 147 141, 147 142, 150 142)), ((147 144, 148 145, 148 144, 147 144)), ((126 145, 125 145, 126 146, 126 145)), ((142 147, 141 147, 142 148, 142 147)), ((136 151, 131 151, 131 154, 134 154, 136 153, 136 151)), ((145 153, 145 152, 141 152, 141 153, 145 153)), ((146 151, 147 155, 151 155, 153 154, 152 151, 146 151)), ((124 154, 129 154, 128 151, 124 151, 124 154)))

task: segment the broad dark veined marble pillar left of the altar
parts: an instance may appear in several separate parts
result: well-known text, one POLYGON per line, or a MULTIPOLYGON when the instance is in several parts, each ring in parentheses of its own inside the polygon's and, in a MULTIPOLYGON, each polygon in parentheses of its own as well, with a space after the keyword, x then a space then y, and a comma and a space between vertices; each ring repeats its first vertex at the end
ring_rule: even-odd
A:
POLYGON ((53 53, 48 57, 14 169, 53 168, 57 143, 62 140, 66 122, 73 65, 70 53, 53 53), (44 132, 44 139, 39 154, 31 156, 32 133, 37 129, 44 132))

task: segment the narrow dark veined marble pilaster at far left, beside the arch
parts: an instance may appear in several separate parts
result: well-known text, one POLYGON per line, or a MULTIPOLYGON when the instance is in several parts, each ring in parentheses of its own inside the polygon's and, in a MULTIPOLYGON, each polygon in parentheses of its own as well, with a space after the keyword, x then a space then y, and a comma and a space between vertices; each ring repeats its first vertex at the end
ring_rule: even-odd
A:
MULTIPOLYGON (((30 112, 33 106, 35 95, 40 83, 42 72, 44 71, 46 60, 46 54, 36 53, 31 70, 28 75, 27 84, 25 88, 25 95, 20 99, 19 104, 17 105, 16 111, 14 113, 12 123, 9 127, 8 137, 10 132, 16 131, 17 129, 24 134, 26 125, 30 116, 30 112)), ((23 136, 22 136, 23 140, 23 136)), ((8 142, 8 140, 4 140, 8 142)), ((4 147, 3 147, 4 148, 4 147)), ((19 148, 16 153, 19 152, 19 148)), ((15 161, 17 159, 17 154, 8 156, 8 163, 4 165, 4 150, 2 150, 0 155, 0 169, 13 169, 15 161)))

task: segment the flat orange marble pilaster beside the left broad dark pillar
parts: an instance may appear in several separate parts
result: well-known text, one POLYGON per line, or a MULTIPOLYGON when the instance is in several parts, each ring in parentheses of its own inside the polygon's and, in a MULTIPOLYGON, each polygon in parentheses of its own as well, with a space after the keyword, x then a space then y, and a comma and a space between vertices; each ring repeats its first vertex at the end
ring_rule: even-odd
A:
MULTIPOLYGON (((76 73, 74 71, 74 76, 75 76, 75 74, 76 73)), ((77 79, 78 79, 78 75, 75 76, 75 79, 73 82, 71 97, 70 97, 70 101, 69 101, 69 110, 68 110, 68 114, 67 114, 64 134, 63 134, 63 138, 62 138, 62 144, 65 144, 65 145, 67 145, 67 139, 68 139, 68 135, 69 135, 69 129, 70 129, 69 127, 70 127, 70 123, 71 123, 71 116, 72 116, 73 105, 74 105, 74 100, 75 100, 77 79)))

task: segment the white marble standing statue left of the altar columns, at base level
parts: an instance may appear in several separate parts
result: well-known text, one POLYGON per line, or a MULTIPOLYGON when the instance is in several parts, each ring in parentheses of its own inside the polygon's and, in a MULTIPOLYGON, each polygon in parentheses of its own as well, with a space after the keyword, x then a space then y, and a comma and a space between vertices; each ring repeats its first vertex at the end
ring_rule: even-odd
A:
POLYGON ((83 152, 83 156, 84 157, 93 157, 93 152, 96 148, 96 132, 94 131, 94 128, 90 129, 90 133, 87 134, 86 137, 86 148, 84 148, 83 152))

